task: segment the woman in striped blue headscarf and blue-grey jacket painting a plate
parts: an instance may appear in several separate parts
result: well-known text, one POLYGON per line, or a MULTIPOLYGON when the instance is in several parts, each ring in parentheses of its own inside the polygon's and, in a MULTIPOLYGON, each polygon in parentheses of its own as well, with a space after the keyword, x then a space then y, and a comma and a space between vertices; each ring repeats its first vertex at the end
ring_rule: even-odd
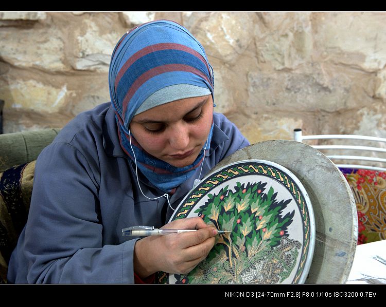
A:
POLYGON ((111 103, 41 152, 10 282, 153 282, 157 271, 189 272, 214 246, 217 230, 201 218, 167 223, 195 180, 249 145, 213 112, 204 49, 174 22, 138 26, 113 51, 109 85, 111 103), (135 225, 198 231, 122 236, 135 225))

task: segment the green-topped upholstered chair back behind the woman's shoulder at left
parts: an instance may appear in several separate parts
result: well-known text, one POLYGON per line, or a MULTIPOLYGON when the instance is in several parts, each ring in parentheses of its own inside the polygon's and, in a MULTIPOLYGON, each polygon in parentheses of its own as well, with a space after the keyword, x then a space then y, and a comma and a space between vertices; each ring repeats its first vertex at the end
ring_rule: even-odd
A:
POLYGON ((36 159, 60 129, 0 134, 0 283, 27 221, 36 159))

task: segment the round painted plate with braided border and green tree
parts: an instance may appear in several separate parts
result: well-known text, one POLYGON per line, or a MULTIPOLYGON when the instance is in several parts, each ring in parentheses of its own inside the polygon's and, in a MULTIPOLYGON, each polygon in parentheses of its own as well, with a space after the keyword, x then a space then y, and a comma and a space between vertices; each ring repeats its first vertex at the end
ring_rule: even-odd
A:
POLYGON ((285 167, 265 160, 222 166, 188 193, 170 221, 196 216, 232 232, 219 235, 194 270, 159 272, 158 282, 304 283, 314 215, 304 186, 285 167))

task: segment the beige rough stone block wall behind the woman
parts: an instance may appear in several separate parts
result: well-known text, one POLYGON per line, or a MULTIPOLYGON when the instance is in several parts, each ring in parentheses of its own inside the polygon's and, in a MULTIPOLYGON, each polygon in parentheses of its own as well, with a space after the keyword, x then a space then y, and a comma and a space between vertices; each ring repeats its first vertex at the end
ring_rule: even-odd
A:
POLYGON ((294 128, 386 137, 384 12, 0 12, 4 132, 61 127, 110 101, 116 42, 159 18, 202 43, 216 110, 250 142, 294 128))

